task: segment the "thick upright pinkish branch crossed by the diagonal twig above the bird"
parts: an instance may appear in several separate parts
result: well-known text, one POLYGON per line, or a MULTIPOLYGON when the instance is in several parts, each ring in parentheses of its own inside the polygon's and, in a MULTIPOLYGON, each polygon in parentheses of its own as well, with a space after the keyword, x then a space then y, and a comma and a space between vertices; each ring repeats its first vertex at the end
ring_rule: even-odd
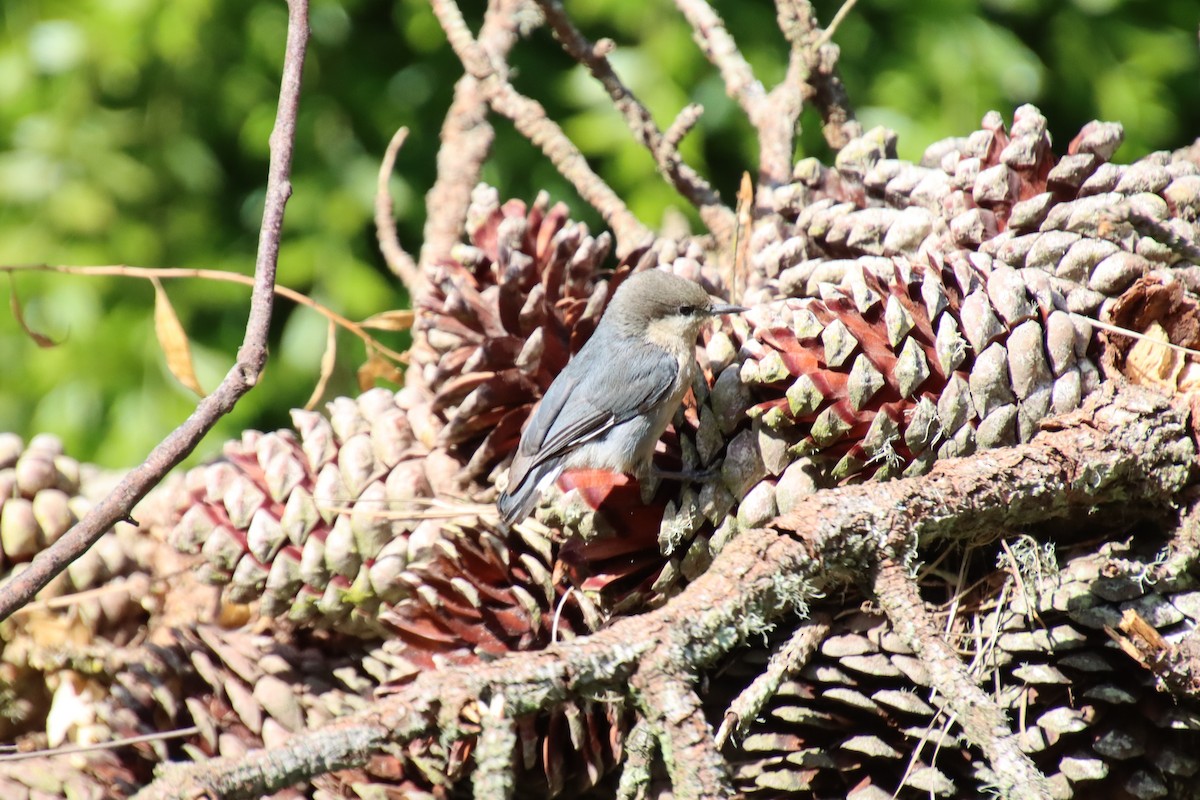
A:
MULTIPOLYGON (((524 0, 491 0, 479 29, 479 46, 503 64, 517 41, 520 14, 524 0)), ((463 237, 470 192, 479 182, 496 132, 487 121, 487 97, 472 74, 455 84, 454 101, 442 122, 442 146, 438 149, 438 178, 425 196, 428 216, 425 242, 421 245, 421 271, 450 258, 450 249, 463 237)))

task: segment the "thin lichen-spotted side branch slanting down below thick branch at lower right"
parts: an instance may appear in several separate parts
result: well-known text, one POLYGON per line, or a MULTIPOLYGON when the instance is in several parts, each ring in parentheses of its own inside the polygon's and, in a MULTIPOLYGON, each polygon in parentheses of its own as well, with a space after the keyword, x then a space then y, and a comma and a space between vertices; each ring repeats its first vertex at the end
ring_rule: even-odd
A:
POLYGON ((881 553, 874 583, 876 601, 892 620, 893 630, 929 670, 929 685, 937 691, 937 700, 986 757, 1001 796, 1050 800, 1045 775, 1021 751, 1003 709, 976 685, 966 664, 938 634, 917 582, 895 560, 892 547, 881 553))

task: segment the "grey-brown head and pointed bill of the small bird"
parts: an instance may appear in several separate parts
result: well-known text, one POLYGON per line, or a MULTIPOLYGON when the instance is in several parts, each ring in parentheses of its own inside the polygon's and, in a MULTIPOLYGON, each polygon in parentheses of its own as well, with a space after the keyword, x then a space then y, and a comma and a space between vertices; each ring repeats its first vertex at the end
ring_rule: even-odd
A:
POLYGON ((605 321, 626 336, 644 336, 672 351, 690 353, 713 317, 746 311, 713 300, 698 283, 664 270, 630 276, 612 297, 605 321))

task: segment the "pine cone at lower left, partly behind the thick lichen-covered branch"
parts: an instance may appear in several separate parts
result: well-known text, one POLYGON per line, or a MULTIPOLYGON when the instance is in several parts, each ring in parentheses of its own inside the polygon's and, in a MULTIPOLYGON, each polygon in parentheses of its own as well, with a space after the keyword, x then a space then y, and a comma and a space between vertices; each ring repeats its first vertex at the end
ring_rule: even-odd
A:
MULTIPOLYGON (((398 680, 413 669, 378 646, 319 636, 299 640, 245 627, 196 625, 160 627, 150 639, 109 656, 108 692, 94 703, 113 736, 148 738, 144 745, 118 751, 122 766, 139 775, 143 784, 167 760, 241 758, 361 711, 379 682, 398 680), (193 726, 198 730, 187 736, 152 736, 193 726)), ((455 750, 454 769, 461 769, 466 751, 455 750)), ((433 787, 446 782, 450 764, 436 742, 416 742, 380 754, 361 769, 320 776, 314 786, 336 793, 352 783, 376 783, 377 790, 397 793, 394 796, 432 799, 433 787)), ((127 795, 114 787, 104 796, 127 795)), ((289 789, 272 796, 310 795, 289 789)))

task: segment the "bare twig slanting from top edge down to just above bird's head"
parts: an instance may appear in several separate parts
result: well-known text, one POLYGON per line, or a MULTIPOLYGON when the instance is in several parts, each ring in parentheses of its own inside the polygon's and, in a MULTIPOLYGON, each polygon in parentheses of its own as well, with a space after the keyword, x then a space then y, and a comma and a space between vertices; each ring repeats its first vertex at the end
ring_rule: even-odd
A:
POLYGON ((467 23, 454 0, 432 0, 442 29, 467 72, 473 74, 497 114, 512 120, 514 126, 550 158, 617 236, 617 253, 625 253, 653 240, 653 233, 630 212, 625 203, 588 166, 587 158, 546 114, 541 104, 520 94, 508 82, 467 30, 467 23))

